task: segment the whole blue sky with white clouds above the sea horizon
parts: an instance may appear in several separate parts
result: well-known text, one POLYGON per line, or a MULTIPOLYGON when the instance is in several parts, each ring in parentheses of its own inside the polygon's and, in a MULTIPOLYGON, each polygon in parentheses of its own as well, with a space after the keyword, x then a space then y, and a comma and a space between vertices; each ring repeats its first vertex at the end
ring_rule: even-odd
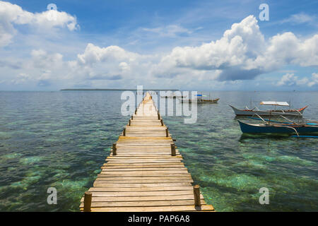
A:
POLYGON ((318 1, 0 1, 0 90, 317 90, 317 8, 318 1), (263 3, 269 21, 259 20, 263 3), (47 20, 48 4, 57 5, 56 21, 47 20))

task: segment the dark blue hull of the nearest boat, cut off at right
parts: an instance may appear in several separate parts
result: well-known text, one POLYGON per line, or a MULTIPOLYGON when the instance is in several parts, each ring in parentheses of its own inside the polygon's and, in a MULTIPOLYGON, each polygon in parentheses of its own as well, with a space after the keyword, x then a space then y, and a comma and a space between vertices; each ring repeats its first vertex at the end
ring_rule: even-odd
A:
POLYGON ((288 125, 287 127, 264 124, 246 124, 240 120, 237 121, 240 123, 242 133, 295 133, 295 130, 298 133, 318 133, 318 126, 288 125))

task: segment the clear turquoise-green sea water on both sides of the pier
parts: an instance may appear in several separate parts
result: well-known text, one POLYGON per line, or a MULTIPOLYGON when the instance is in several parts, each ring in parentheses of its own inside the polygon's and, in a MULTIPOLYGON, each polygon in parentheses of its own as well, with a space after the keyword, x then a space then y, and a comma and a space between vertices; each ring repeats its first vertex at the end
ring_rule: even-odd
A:
MULTIPOLYGON (((120 113, 120 95, 0 92, 0 210, 78 211, 129 119, 120 113), (57 205, 47 204, 49 187, 57 188, 57 205)), ((196 124, 163 117, 206 201, 218 211, 317 211, 318 139, 242 136, 228 104, 292 100, 310 105, 305 117, 318 120, 318 92, 212 96, 219 103, 199 105, 196 124), (269 205, 259 204, 261 187, 269 189, 269 205)))

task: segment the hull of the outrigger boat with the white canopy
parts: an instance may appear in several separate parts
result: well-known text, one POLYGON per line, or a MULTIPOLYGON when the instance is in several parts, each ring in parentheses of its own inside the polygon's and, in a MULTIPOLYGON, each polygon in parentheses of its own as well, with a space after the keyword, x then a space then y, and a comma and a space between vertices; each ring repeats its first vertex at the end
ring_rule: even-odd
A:
POLYGON ((299 111, 254 111, 254 110, 242 110, 242 109, 237 109, 236 107, 232 107, 234 113, 237 116, 253 116, 253 115, 259 115, 259 116, 279 116, 279 115, 293 115, 293 116, 302 116, 302 113, 305 111, 306 107, 303 107, 299 111))

